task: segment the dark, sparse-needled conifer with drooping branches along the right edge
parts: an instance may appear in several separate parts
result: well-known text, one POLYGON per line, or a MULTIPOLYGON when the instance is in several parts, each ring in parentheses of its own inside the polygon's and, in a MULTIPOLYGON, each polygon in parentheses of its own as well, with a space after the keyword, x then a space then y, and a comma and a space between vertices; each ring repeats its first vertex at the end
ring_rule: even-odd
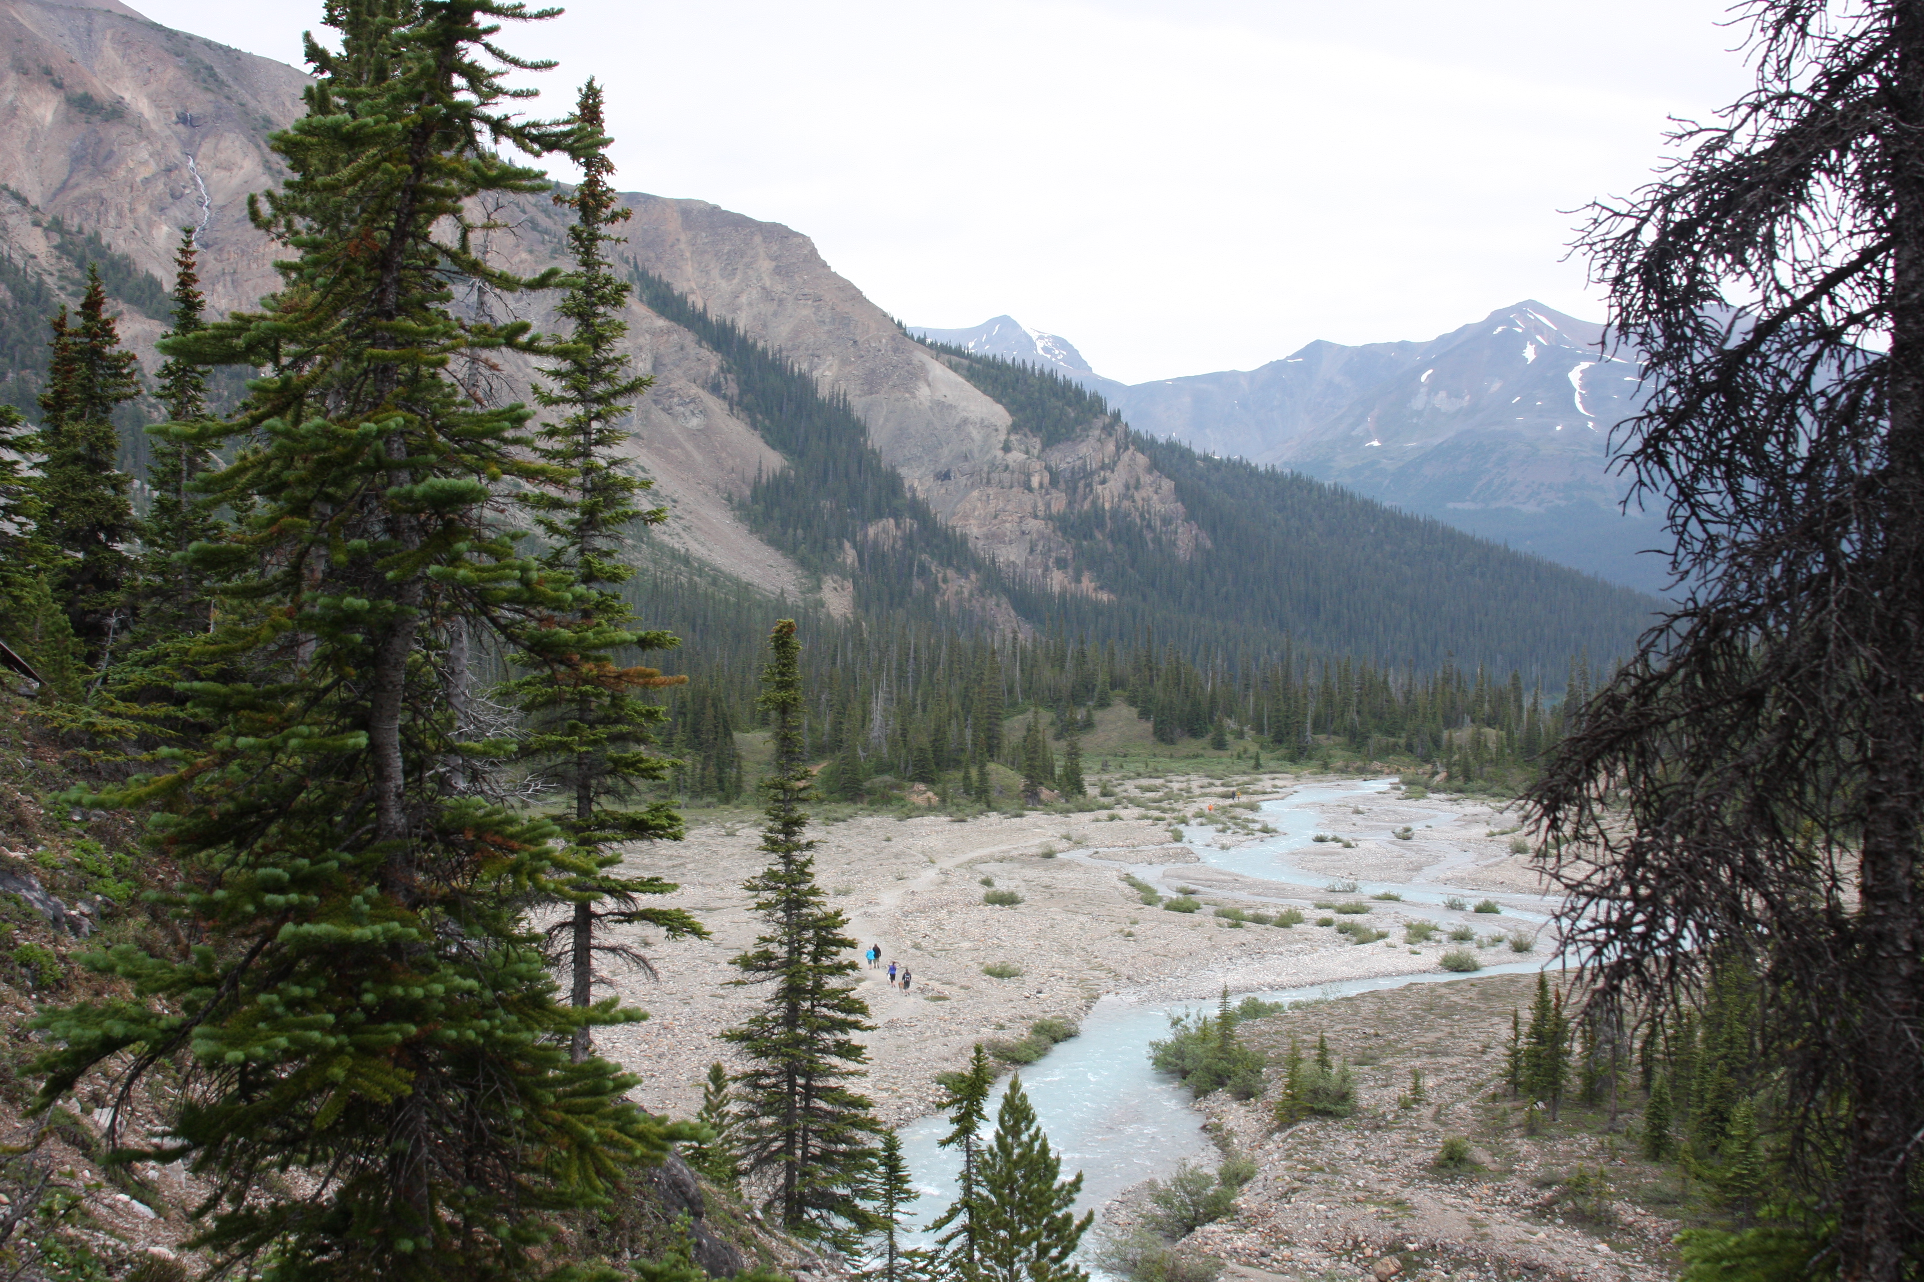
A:
POLYGON ((1924 10, 1741 13, 1755 88, 1580 244, 1641 365, 1612 444, 1680 604, 1532 817, 1601 999, 1685 1003, 1734 953, 1760 978, 1797 1205, 1703 1276, 1897 1282, 1924 1267, 1924 10))

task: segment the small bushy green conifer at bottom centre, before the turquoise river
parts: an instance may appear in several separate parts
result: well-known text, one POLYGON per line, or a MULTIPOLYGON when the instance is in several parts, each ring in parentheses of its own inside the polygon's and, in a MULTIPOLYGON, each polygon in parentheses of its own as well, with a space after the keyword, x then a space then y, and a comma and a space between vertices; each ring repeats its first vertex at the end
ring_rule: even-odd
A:
POLYGON ((1070 1263, 1095 1213, 1076 1219, 1081 1174, 1062 1176, 1062 1159, 1035 1122, 1035 1109, 1010 1076, 981 1155, 981 1272, 985 1282, 1087 1282, 1070 1263))

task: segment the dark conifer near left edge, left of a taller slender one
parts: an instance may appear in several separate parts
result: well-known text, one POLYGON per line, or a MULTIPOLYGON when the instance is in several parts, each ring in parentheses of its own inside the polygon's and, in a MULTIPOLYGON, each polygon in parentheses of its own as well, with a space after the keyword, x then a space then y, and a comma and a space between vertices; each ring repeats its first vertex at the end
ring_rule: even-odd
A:
POLYGON ((140 394, 133 352, 106 313, 100 269, 87 269, 79 323, 67 309, 50 321, 54 357, 40 394, 42 536, 56 552, 54 592, 90 667, 112 661, 127 630, 123 546, 133 540, 133 477, 115 467, 114 409, 140 394))

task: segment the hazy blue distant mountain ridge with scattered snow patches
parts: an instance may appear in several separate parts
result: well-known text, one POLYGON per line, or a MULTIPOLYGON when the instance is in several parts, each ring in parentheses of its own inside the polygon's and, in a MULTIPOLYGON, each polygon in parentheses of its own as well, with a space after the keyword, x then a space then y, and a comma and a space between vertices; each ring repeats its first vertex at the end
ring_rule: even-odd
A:
POLYGON ((1249 371, 1137 384, 1047 359, 1041 344, 1018 356, 1010 340, 1002 354, 1099 390, 1152 436, 1289 467, 1660 592, 1662 561, 1639 555, 1660 542, 1660 523, 1620 513, 1624 484, 1608 471, 1610 429, 1637 409, 1639 369, 1603 338, 1595 321, 1524 300, 1430 342, 1318 340, 1249 371))

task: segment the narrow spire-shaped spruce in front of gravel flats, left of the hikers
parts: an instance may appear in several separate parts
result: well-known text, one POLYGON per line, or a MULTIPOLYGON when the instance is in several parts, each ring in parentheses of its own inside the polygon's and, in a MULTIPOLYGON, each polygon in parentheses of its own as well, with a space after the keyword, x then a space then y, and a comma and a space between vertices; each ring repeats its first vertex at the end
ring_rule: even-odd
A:
POLYGON ((808 830, 810 773, 802 740, 802 667, 795 621, 768 638, 760 705, 772 728, 773 761, 762 784, 768 825, 762 850, 770 863, 748 878, 754 911, 766 925, 756 948, 735 957, 743 976, 731 984, 770 984, 762 1009, 723 1038, 741 1048, 748 1067, 741 1090, 745 1172, 768 1182, 768 1207, 791 1232, 856 1249, 868 1226, 860 1196, 873 1165, 881 1122, 848 1078, 868 1051, 868 1003, 854 994, 854 940, 847 919, 816 884, 808 830))

